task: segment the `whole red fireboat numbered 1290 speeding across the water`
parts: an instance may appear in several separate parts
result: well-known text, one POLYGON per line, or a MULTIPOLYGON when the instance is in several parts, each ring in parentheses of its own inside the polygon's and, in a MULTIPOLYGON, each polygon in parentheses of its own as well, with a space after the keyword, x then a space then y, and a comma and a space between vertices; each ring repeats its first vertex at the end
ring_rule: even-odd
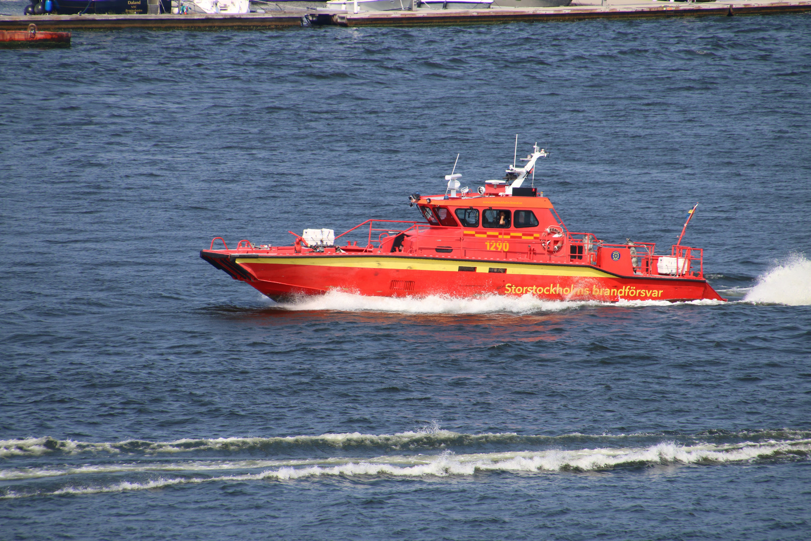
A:
MULTIPOLYGON (((445 177, 440 195, 412 194, 425 221, 377 220, 335 235, 304 230, 290 246, 241 240, 234 249, 214 238, 200 257, 274 300, 345 291, 382 297, 489 294, 547 300, 726 300, 704 278, 701 248, 654 253, 654 243, 609 244, 573 233, 543 192, 523 186, 543 148, 508 167, 504 180, 477 191, 460 189, 460 174, 445 177), (345 235, 363 234, 343 243, 345 235), (215 241, 222 249, 215 249, 215 241)), ((458 157, 457 157, 458 160, 458 157)), ((454 170, 456 166, 454 165, 454 170)))

